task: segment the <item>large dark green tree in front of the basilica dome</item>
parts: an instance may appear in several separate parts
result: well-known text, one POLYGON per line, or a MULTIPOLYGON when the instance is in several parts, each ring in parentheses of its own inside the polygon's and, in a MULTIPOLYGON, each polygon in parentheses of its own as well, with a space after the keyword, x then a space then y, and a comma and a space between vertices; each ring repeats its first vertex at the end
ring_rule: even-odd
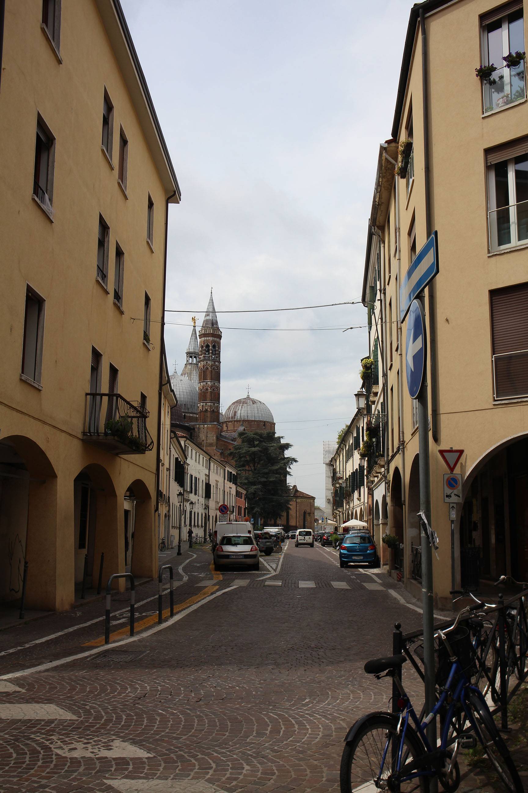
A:
POLYGON ((244 432, 231 451, 238 481, 246 490, 248 511, 266 523, 278 520, 291 500, 287 476, 297 460, 287 457, 291 443, 275 432, 244 432))

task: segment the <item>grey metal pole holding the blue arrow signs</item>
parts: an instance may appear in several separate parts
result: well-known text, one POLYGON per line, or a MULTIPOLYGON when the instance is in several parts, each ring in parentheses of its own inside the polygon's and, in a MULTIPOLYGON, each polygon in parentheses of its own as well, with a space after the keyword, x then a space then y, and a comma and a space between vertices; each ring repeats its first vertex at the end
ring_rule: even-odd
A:
MULTIPOLYGON (((417 298, 424 309, 424 293, 417 298)), ((424 311, 425 313, 425 311, 424 311)), ((418 443, 420 467, 420 511, 431 525, 431 475, 429 469, 429 400, 427 397, 427 361, 424 360, 424 385, 418 395, 418 443)), ((435 629, 433 611, 433 559, 431 539, 422 523, 422 603, 424 608, 424 677, 425 711, 430 714, 435 707, 435 629)), ((427 726, 427 738, 436 746, 436 721, 427 726)))

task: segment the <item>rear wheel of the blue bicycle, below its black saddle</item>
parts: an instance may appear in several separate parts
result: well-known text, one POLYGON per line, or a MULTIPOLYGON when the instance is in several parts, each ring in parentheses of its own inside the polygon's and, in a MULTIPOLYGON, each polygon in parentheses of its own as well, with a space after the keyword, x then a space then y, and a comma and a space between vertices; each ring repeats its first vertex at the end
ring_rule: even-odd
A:
MULTIPOLYGON (((365 793, 368 791, 370 793, 374 790, 386 791, 387 789, 396 789, 396 787, 401 793, 410 793, 410 791, 424 791, 425 793, 424 777, 399 783, 392 780, 393 761, 396 760, 399 745, 396 718, 390 714, 373 713, 361 719, 351 740, 344 745, 340 767, 341 793, 352 793, 352 791, 365 791, 365 793), (387 742, 390 745, 382 766, 387 742), (393 788, 391 785, 395 785, 395 787, 393 788)), ((405 734, 401 768, 405 768, 405 764, 411 764, 412 760, 416 760, 423 754, 424 749, 416 734, 408 729, 405 734)), ((405 776, 405 773, 401 776, 405 776)))

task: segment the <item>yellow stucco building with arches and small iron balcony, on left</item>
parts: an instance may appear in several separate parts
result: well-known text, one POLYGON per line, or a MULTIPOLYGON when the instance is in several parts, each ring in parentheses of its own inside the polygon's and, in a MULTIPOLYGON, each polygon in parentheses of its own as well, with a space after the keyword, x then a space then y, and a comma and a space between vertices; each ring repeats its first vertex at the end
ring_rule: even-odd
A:
POLYGON ((162 305, 180 200, 119 0, 7 2, 0 600, 157 570, 162 305), (161 320, 161 321, 160 321, 161 320))

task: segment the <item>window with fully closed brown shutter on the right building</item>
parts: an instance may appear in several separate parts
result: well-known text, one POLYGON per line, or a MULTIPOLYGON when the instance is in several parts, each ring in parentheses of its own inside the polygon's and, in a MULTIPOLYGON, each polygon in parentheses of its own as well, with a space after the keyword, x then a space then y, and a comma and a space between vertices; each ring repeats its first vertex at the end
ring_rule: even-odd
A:
POLYGON ((493 397, 528 397, 528 283, 490 292, 493 397))

